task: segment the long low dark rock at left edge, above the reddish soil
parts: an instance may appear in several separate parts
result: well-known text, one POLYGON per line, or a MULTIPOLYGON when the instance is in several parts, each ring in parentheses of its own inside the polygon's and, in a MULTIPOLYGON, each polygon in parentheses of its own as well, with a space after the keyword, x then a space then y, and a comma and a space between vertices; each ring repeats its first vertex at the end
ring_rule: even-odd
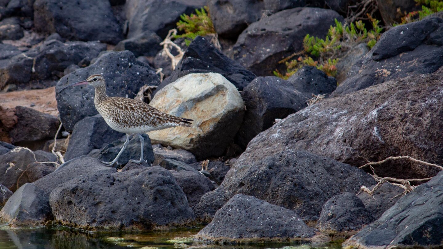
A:
POLYGON ((48 80, 63 73, 71 64, 89 63, 106 44, 50 40, 9 60, 0 61, 0 87, 5 84, 29 84, 31 80, 48 80))

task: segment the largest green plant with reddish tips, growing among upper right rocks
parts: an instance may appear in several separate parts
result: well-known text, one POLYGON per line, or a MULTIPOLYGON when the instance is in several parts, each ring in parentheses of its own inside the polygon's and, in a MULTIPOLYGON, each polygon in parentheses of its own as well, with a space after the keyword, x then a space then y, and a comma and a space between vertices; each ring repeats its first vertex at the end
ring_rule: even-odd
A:
POLYGON ((378 25, 380 22, 368 16, 372 24, 372 29, 367 30, 365 23, 357 21, 345 25, 335 19, 335 26, 330 26, 325 39, 306 35, 303 39, 303 51, 292 54, 284 58, 280 63, 285 63, 287 72, 282 74, 278 70, 274 71, 274 75, 287 79, 295 74, 303 66, 315 66, 329 76, 337 74, 337 62, 344 52, 358 43, 366 43, 372 48, 380 38, 382 27, 378 25), (292 59, 295 56, 296 59, 292 59))

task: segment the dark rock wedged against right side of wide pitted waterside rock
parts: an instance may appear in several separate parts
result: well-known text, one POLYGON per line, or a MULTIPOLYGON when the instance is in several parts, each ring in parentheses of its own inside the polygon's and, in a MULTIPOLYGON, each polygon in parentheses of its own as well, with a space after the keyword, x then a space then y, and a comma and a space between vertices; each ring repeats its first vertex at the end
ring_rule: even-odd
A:
POLYGON ((215 189, 214 183, 209 178, 189 165, 170 170, 170 172, 182 188, 191 207, 195 206, 204 194, 215 189))

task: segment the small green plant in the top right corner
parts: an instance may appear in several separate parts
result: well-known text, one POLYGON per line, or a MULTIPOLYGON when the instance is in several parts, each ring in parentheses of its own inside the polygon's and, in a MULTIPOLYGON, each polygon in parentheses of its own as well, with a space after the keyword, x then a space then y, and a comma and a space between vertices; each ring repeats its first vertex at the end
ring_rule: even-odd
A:
MULTIPOLYGON (((443 1, 442 0, 415 0, 417 5, 422 5, 421 10, 413 11, 406 13, 404 12, 404 16, 401 18, 401 22, 396 25, 412 23, 418 20, 425 18, 426 16, 430 16, 436 12, 443 11, 443 1)), ((400 10, 398 12, 401 13, 400 10)))

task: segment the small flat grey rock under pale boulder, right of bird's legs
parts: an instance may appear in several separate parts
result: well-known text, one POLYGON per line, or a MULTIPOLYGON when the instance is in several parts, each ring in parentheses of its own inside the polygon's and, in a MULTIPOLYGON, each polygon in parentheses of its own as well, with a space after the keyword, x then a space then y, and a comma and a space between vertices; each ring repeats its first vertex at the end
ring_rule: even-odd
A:
POLYGON ((194 154, 183 149, 169 149, 163 147, 161 144, 152 145, 152 149, 155 158, 152 165, 159 165, 165 159, 174 159, 187 164, 197 162, 194 154))

